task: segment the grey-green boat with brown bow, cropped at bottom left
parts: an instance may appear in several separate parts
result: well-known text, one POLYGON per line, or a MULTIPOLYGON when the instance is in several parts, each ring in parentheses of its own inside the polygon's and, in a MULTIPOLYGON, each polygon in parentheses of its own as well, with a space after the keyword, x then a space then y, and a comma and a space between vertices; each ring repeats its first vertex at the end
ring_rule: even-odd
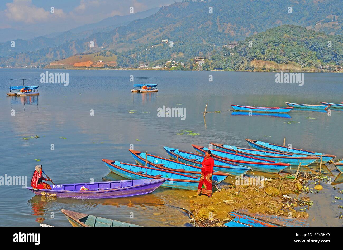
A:
POLYGON ((135 224, 115 221, 65 209, 62 209, 61 212, 66 215, 68 221, 74 227, 140 227, 139 225, 135 224))

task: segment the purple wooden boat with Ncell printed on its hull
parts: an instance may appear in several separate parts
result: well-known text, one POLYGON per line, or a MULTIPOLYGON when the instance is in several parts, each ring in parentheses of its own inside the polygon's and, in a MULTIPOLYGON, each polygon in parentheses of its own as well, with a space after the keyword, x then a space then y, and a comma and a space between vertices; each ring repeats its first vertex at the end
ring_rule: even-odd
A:
POLYGON ((74 199, 106 199, 135 195, 144 195, 153 192, 165 182, 165 178, 117 180, 113 182, 74 183, 51 185, 52 189, 36 189, 27 187, 35 193, 47 197, 74 198, 74 199), (81 187, 88 188, 80 191, 81 187))

